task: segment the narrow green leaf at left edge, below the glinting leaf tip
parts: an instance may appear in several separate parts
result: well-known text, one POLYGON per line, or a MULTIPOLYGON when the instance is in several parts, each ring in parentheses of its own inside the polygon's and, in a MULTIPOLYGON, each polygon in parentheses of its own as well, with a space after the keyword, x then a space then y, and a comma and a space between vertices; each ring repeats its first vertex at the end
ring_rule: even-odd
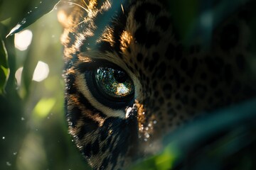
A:
POLYGON ((4 41, 0 39, 0 94, 4 93, 6 81, 9 77, 7 52, 4 41))

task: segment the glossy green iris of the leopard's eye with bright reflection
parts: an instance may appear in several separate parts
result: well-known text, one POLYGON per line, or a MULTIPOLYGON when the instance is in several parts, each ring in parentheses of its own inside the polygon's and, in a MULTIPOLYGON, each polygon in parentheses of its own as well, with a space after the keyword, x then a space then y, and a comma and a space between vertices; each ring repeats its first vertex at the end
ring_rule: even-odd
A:
POLYGON ((99 67, 95 78, 98 87, 109 96, 122 98, 134 94, 132 79, 120 69, 99 67))

